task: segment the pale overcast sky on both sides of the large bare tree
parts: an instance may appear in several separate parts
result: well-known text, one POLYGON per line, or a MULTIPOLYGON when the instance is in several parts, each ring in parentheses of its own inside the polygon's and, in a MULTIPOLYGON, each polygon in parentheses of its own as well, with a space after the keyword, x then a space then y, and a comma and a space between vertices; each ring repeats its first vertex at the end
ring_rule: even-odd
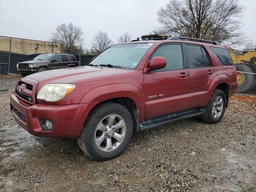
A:
MULTIPOLYGON (((128 32, 136 39, 159 26, 157 11, 168 0, 0 0, 0 36, 46 41, 58 24, 72 22, 84 32, 84 47, 93 36, 107 32, 117 41, 128 32)), ((246 6, 242 31, 256 41, 256 0, 239 0, 246 6)))

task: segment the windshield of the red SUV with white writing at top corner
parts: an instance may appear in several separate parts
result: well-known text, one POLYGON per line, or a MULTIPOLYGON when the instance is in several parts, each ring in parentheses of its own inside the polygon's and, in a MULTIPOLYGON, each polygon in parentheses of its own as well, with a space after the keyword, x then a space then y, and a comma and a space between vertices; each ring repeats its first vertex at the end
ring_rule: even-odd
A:
MULTIPOLYGON (((129 43, 114 45, 99 56, 90 64, 92 65, 112 65, 121 68, 134 69, 140 63, 142 57, 154 43, 129 43)), ((89 64, 89 65, 90 65, 89 64)))

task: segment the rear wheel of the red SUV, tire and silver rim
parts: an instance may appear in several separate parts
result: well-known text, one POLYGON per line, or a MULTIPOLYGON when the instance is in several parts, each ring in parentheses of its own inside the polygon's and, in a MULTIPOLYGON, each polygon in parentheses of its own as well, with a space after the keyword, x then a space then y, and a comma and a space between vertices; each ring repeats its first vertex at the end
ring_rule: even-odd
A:
POLYGON ((201 115, 202 120, 206 123, 211 123, 211 124, 218 123, 224 115, 226 106, 227 106, 227 99, 226 99, 225 93, 219 89, 214 90, 214 93, 212 94, 212 98, 210 99, 210 102, 206 106, 206 112, 201 115), (218 107, 220 108, 222 106, 221 112, 220 112, 220 108, 217 109, 216 105, 214 104, 214 103, 218 103, 219 101, 218 98, 222 99, 222 105, 218 105, 218 107), (217 111, 217 116, 215 111, 217 111))

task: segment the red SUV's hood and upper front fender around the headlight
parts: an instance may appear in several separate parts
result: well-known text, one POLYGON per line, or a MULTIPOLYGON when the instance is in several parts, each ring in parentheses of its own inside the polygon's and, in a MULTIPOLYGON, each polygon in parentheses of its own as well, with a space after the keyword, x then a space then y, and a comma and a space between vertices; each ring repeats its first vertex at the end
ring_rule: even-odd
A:
POLYGON ((36 94, 45 84, 75 84, 76 88, 72 93, 56 104, 78 104, 82 97, 94 88, 113 84, 130 84, 134 87, 141 87, 143 75, 142 70, 81 66, 31 74, 22 78, 22 81, 38 82, 36 94))

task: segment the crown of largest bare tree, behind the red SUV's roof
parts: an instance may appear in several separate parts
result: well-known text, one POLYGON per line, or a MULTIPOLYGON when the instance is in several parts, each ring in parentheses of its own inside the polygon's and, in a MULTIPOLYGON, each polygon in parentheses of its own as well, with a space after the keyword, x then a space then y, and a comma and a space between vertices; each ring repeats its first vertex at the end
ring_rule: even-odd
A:
POLYGON ((241 36, 243 10, 238 0, 170 0, 157 14, 164 33, 228 41, 241 36))

